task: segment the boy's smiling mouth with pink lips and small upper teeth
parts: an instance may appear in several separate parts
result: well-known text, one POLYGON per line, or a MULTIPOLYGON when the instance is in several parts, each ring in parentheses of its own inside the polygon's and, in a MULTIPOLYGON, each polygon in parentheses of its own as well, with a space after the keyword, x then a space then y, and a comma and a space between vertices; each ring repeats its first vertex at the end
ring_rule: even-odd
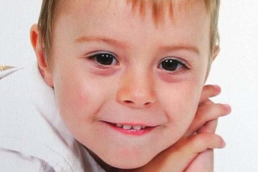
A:
POLYGON ((120 133, 128 134, 128 135, 136 135, 136 136, 147 134, 157 127, 157 126, 145 126, 140 124, 130 124, 130 123, 122 124, 122 123, 110 123, 105 121, 102 121, 102 122, 104 122, 109 127, 111 127, 112 129, 120 133))

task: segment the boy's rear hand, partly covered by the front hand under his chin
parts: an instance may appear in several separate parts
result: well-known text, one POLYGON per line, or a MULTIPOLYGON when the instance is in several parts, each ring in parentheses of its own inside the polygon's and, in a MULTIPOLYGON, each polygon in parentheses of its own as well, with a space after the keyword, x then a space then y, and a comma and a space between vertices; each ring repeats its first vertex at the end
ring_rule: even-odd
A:
MULTIPOLYGON (((220 93, 220 88, 218 86, 204 87, 198 111, 195 115, 195 119, 192 125, 189 127, 188 132, 186 133, 186 136, 187 135, 189 136, 193 133, 197 133, 197 134, 215 133, 215 130, 218 124, 218 117, 216 114, 226 115, 231 111, 229 105, 214 104, 212 101, 209 100, 209 97, 216 96, 219 93, 220 93), (215 106, 217 106, 217 108, 215 106), (205 115, 209 115, 209 117, 205 115), (209 118, 210 120, 205 123, 204 122, 205 119, 209 119, 209 118)), ((198 172, 213 171, 213 150, 212 149, 208 149, 204 152, 199 153, 196 156, 196 158, 184 170, 184 172, 195 172, 195 171, 198 171, 198 172)))

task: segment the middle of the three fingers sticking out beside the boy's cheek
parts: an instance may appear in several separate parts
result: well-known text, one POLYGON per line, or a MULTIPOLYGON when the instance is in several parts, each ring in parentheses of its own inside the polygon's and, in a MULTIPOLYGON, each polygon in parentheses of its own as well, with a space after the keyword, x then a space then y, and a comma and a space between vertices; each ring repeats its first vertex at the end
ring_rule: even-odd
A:
POLYGON ((195 118, 184 137, 188 137, 199 130, 206 122, 228 115, 231 108, 228 104, 206 103, 198 107, 195 118))

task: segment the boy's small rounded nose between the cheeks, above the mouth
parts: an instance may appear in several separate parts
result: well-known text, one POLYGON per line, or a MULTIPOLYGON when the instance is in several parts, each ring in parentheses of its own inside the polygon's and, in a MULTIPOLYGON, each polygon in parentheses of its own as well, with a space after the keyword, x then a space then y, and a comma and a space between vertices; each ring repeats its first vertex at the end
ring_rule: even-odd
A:
POLYGON ((131 108, 150 107, 156 101, 153 79, 148 73, 122 76, 117 100, 131 108))

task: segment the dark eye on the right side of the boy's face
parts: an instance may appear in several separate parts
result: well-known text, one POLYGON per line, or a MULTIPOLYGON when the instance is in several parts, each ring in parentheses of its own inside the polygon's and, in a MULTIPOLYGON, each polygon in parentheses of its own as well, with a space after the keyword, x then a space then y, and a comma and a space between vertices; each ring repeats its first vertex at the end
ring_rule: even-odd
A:
POLYGON ((158 64, 158 68, 164 69, 166 71, 177 71, 181 68, 189 69, 184 60, 176 59, 174 57, 169 57, 161 60, 158 64))

